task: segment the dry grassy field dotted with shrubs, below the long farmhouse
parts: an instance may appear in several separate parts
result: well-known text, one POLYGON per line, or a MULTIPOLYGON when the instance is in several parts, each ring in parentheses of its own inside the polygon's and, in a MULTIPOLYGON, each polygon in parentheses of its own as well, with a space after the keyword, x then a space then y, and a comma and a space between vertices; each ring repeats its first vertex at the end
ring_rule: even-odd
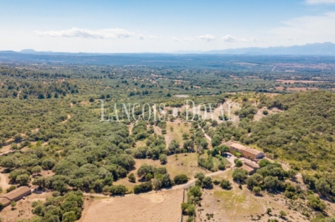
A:
MULTIPOLYGON (((266 222, 269 218, 277 218, 279 221, 309 221, 298 211, 288 207, 289 199, 282 194, 268 194, 263 192, 262 196, 252 194, 246 185, 239 189, 238 185, 232 181, 232 171, 226 171, 218 176, 212 176, 212 179, 229 179, 232 183, 232 189, 221 189, 220 186, 214 186, 213 189, 202 191, 202 206, 197 207, 196 221, 252 221, 252 218, 259 217, 261 222, 266 222), (265 213, 267 208, 272 209, 272 213, 265 213), (201 210, 200 210, 201 209, 201 210), (286 218, 279 218, 279 211, 287 213, 286 218), (208 219, 207 215, 213 215, 208 219)), ((297 200, 297 204, 301 200, 297 200)), ((301 202, 302 203, 302 202, 301 202)), ((333 207, 327 204, 331 211, 333 207)))

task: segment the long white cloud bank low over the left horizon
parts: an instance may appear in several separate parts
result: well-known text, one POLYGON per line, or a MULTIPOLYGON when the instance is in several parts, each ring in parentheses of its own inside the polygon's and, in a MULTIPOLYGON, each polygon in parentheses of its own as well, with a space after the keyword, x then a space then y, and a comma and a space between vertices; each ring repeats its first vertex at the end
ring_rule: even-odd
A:
POLYGON ((51 37, 80 37, 80 38, 129 38, 133 33, 121 28, 110 28, 100 30, 89 30, 82 28, 71 28, 62 31, 36 31, 40 36, 51 37))

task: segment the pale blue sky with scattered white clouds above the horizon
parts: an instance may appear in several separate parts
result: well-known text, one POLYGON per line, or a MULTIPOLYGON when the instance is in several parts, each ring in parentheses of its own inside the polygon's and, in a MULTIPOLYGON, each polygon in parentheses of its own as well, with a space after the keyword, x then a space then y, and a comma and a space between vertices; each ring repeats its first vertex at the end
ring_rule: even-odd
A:
POLYGON ((137 53, 335 43, 335 0, 0 0, 0 51, 137 53))

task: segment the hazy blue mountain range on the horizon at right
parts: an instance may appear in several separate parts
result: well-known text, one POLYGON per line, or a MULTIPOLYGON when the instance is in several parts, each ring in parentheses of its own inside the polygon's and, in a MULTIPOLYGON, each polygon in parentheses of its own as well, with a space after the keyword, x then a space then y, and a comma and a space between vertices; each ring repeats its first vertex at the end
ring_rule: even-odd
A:
POLYGON ((232 48, 212 50, 202 54, 230 54, 230 55, 299 55, 299 56, 335 56, 334 43, 312 43, 304 46, 278 46, 269 48, 232 48))

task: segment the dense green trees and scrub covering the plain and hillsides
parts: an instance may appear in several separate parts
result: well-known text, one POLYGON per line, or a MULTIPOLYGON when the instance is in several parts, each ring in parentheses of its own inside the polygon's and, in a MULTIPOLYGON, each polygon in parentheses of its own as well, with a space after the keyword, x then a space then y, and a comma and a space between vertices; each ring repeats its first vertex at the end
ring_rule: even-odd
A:
MULTIPOLYGON (((307 74, 301 73, 301 80, 318 77, 329 82, 291 86, 328 89, 334 81, 329 73, 307 74)), ((286 74, 283 76, 288 78, 286 74)), ((189 180, 185 174, 171 178, 165 167, 147 164, 130 174, 139 159, 153 159, 164 166, 170 155, 177 158, 180 153, 197 152, 197 163, 202 169, 223 170, 229 147, 222 142, 234 140, 262 149, 272 159, 285 159, 292 168, 284 171, 280 164, 262 162, 262 168, 253 176, 235 170, 235 181, 247 184, 254 194, 281 192, 288 199, 306 200, 315 211, 324 211, 326 206, 319 196, 335 201, 334 94, 321 90, 284 92, 275 97, 263 94, 291 84, 276 79, 272 73, 237 71, 233 67, 203 70, 161 66, 1 65, 0 144, 16 152, 0 155, 0 165, 14 184, 33 184, 39 190, 53 191, 53 197, 45 203, 33 203, 36 217, 32 221, 75 221, 81 217, 83 193, 139 194, 189 180), (251 75, 256 78, 247 77, 251 75), (236 94, 229 94, 232 92, 236 94), (239 122, 202 121, 195 116, 192 123, 183 123, 190 126, 190 133, 182 134, 182 142, 174 139, 167 144, 165 134, 173 129, 167 129, 165 121, 153 117, 148 122, 135 121, 133 117, 114 121, 114 102, 141 105, 164 102, 169 106, 167 121, 185 120, 185 112, 172 115, 174 107, 185 105, 185 98, 175 95, 188 95, 196 104, 211 102, 213 108, 214 104, 228 100, 239 102, 240 109, 234 112, 239 122), (109 116, 110 122, 99 122, 100 99, 105 100, 105 120, 109 116), (263 107, 267 107, 262 112, 264 117, 254 121, 263 107), (270 115, 272 110, 279 111, 270 115), (154 127, 159 127, 162 134, 156 134, 154 127), (211 142, 207 142, 205 133, 211 142), (52 170, 54 175, 42 176, 46 170, 52 170), (294 179, 297 171, 304 172, 308 192, 285 183, 294 179), (130 182, 140 184, 133 189, 115 185, 115 181, 127 176, 130 182)), ((209 108, 206 106, 207 112, 209 108)), ((123 107, 116 110, 120 117, 123 107)), ((148 117, 149 106, 143 110, 148 117)), ((135 108, 136 117, 141 112, 142 106, 135 108)), ((227 115, 221 120, 227 120, 227 115)), ((235 164, 242 166, 239 160, 235 164)), ((214 183, 222 189, 231 189, 227 180, 212 181, 204 174, 197 174, 196 178, 196 186, 188 191, 187 203, 182 206, 190 218, 201 201, 200 188, 210 189, 214 183)), ((305 211, 301 213, 307 215, 305 211)))

